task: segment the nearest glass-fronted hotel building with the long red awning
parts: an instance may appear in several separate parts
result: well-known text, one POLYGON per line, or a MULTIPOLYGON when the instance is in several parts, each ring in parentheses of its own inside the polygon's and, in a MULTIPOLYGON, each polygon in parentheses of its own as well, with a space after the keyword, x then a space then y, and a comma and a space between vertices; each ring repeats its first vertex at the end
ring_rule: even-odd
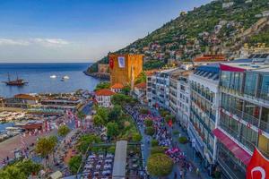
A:
POLYGON ((255 148, 269 157, 269 60, 221 64, 220 89, 217 160, 227 178, 245 178, 255 148))

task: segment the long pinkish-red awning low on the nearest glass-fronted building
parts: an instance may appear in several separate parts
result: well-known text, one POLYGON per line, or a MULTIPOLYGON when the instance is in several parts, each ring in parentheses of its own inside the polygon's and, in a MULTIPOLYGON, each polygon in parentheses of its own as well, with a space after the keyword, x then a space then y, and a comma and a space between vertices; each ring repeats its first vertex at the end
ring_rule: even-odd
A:
POLYGON ((221 132, 220 129, 214 129, 213 134, 223 145, 230 150, 236 158, 239 158, 246 166, 248 165, 251 155, 245 149, 242 149, 236 142, 232 141, 228 135, 221 132))

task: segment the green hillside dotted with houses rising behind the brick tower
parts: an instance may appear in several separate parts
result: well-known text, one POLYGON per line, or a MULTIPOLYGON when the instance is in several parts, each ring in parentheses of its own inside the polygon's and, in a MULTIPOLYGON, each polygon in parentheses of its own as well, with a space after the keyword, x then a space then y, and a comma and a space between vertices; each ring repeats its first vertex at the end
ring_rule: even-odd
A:
MULTIPOLYGON (((116 53, 144 55, 144 68, 151 69, 170 60, 187 61, 204 53, 231 55, 249 43, 269 47, 268 0, 218 0, 190 12, 182 12, 144 38, 116 53)), ((98 63, 108 63, 108 56, 98 63)), ((97 64, 89 68, 97 71, 97 64)))

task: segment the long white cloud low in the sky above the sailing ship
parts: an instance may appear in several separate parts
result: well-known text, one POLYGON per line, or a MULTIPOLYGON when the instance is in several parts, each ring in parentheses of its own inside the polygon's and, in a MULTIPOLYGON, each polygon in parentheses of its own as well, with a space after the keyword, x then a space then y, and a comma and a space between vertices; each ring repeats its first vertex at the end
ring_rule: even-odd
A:
POLYGON ((0 46, 39 45, 42 47, 62 47, 69 44, 70 42, 68 42, 63 38, 30 38, 30 39, 0 38, 0 46))

